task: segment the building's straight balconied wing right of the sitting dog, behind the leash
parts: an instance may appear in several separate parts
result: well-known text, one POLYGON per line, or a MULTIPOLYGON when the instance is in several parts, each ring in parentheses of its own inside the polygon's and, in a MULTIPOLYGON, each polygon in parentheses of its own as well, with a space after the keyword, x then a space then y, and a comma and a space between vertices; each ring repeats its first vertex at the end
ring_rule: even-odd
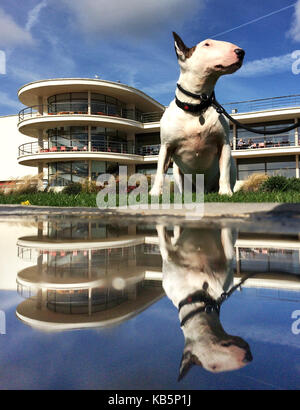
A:
MULTIPOLYGON (((230 103, 225 108, 243 124, 260 131, 276 131, 299 120, 300 95, 230 103)), ((286 133, 259 135, 233 124, 231 140, 238 180, 253 173, 299 178, 299 127, 286 133)))

